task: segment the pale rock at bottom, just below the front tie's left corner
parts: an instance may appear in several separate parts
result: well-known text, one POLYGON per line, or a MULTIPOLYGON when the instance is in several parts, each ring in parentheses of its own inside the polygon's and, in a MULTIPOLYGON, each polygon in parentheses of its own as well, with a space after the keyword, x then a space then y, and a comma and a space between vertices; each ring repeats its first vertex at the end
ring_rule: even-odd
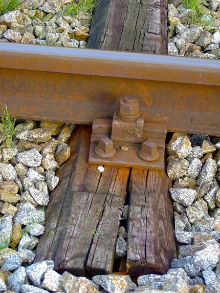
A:
POLYGON ((47 269, 44 274, 42 287, 52 292, 64 290, 64 287, 61 285, 61 275, 54 270, 47 269))

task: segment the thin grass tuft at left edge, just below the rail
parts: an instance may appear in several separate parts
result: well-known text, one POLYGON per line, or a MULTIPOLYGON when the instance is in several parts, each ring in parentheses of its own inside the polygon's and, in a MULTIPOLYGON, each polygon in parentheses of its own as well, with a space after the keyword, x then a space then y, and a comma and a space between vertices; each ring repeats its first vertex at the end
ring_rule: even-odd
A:
POLYGON ((13 147, 13 140, 15 138, 15 117, 10 117, 7 105, 1 105, 1 122, 3 125, 4 134, 0 137, 0 141, 7 143, 8 147, 13 147))

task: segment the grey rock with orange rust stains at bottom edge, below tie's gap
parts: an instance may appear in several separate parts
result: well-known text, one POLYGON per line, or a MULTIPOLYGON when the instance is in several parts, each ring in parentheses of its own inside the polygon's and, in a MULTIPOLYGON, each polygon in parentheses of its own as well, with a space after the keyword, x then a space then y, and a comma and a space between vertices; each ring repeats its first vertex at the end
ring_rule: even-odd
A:
POLYGON ((92 281, 104 288, 109 293, 125 293, 128 290, 135 290, 137 285, 132 282, 131 277, 119 275, 97 275, 92 281))

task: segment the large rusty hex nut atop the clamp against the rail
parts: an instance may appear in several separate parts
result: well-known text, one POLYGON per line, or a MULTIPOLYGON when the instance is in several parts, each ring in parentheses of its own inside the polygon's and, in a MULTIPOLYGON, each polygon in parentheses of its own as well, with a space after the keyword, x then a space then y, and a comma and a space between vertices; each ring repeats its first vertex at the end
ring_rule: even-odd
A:
POLYGON ((138 100, 133 97, 121 98, 118 108, 118 117, 123 121, 134 122, 140 118, 138 100))

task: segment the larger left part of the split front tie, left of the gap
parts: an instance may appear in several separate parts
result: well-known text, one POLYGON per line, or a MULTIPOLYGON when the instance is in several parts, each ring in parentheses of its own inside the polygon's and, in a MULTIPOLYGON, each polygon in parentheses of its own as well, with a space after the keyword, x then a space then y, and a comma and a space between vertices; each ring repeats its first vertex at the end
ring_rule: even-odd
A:
POLYGON ((90 127, 78 126, 70 138, 70 158, 57 172, 60 183, 51 192, 45 232, 35 258, 35 262, 52 259, 57 270, 77 275, 87 273, 89 257, 91 273, 112 271, 130 174, 126 167, 104 166, 101 173, 97 165, 88 164, 90 135, 90 127))

